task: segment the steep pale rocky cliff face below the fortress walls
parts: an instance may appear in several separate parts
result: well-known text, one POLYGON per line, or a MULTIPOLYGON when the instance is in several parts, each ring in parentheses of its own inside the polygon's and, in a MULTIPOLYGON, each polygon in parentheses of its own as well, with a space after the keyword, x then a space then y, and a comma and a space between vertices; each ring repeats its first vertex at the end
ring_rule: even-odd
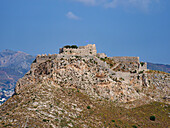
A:
POLYGON ((19 94, 30 84, 46 83, 71 86, 90 96, 120 103, 145 98, 167 101, 170 75, 152 73, 146 67, 139 57, 99 58, 65 52, 39 55, 31 70, 17 82, 15 93, 19 94))

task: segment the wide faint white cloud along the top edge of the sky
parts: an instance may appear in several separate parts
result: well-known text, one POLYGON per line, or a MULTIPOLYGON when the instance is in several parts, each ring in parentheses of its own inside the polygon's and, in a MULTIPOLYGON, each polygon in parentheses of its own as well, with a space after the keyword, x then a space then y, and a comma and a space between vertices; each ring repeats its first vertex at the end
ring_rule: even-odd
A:
POLYGON ((106 8, 135 7, 141 9, 148 9, 151 4, 158 3, 160 0, 73 0, 83 3, 85 5, 104 6, 106 8))

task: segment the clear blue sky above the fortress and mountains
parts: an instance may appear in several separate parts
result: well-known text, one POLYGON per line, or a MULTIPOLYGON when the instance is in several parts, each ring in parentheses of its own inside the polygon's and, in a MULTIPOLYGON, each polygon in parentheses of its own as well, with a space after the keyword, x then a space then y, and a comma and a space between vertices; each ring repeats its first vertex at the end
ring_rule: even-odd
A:
POLYGON ((170 64, 170 0, 0 0, 0 51, 53 54, 88 43, 170 64))

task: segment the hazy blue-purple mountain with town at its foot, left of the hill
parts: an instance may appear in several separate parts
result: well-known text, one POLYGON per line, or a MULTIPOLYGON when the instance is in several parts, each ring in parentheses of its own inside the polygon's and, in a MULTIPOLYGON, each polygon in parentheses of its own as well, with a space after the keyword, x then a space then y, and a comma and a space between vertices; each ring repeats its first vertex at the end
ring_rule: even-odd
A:
POLYGON ((0 104, 14 92, 17 80, 30 69, 34 56, 9 49, 0 52, 0 104))

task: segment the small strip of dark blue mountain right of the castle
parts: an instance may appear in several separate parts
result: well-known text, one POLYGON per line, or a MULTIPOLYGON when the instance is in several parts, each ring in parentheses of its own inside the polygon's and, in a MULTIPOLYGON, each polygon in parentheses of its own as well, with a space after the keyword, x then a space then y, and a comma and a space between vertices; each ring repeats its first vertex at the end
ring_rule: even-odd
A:
POLYGON ((170 73, 170 65, 165 65, 165 64, 154 64, 154 63, 147 63, 148 69, 150 70, 158 70, 158 71, 163 71, 170 73))

